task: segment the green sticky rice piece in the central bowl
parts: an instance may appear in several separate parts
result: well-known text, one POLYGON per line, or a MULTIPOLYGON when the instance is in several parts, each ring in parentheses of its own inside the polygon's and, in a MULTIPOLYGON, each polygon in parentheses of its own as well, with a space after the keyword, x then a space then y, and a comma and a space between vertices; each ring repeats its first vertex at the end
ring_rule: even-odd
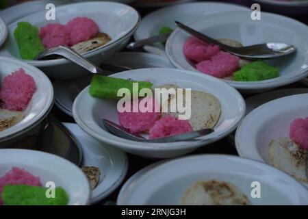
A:
POLYGON ((127 88, 133 93, 133 83, 138 83, 138 92, 142 88, 151 89, 153 83, 147 81, 130 81, 127 79, 120 79, 114 77, 106 77, 103 75, 94 75, 92 77, 89 93, 91 96, 101 99, 121 99, 123 96, 118 96, 118 90, 127 88))

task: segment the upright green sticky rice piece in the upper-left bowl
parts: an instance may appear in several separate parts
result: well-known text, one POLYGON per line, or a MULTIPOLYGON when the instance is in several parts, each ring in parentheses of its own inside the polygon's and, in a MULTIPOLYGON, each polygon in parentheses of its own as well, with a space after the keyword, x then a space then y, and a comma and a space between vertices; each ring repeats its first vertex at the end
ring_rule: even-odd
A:
POLYGON ((38 36, 38 27, 29 22, 19 22, 14 31, 14 38, 23 60, 34 60, 36 55, 44 51, 44 46, 38 36))

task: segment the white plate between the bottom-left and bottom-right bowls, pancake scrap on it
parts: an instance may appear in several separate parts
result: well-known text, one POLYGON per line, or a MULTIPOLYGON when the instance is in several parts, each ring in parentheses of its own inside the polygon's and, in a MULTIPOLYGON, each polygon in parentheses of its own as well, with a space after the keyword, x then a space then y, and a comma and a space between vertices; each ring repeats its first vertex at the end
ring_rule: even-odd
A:
POLYGON ((81 143, 84 153, 83 166, 95 166, 101 171, 97 188, 92 190, 90 203, 94 204, 110 195, 127 174, 127 155, 118 149, 103 144, 82 131, 78 125, 64 123, 81 143))

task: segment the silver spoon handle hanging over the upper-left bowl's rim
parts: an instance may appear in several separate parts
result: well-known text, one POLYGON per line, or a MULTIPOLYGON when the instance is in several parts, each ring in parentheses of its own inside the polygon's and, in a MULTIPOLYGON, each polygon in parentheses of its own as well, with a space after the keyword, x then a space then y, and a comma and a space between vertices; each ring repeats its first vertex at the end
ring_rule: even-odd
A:
POLYGON ((63 57, 66 57, 66 59, 74 62, 75 64, 78 64, 79 66, 86 68, 91 73, 97 74, 97 73, 103 73, 103 70, 99 68, 98 66, 95 66, 86 58, 84 58, 82 55, 79 55, 79 53, 75 52, 73 49, 70 49, 70 47, 54 47, 51 49, 47 49, 46 51, 43 51, 40 53, 36 60, 42 59, 42 57, 46 57, 48 55, 61 55, 63 57))

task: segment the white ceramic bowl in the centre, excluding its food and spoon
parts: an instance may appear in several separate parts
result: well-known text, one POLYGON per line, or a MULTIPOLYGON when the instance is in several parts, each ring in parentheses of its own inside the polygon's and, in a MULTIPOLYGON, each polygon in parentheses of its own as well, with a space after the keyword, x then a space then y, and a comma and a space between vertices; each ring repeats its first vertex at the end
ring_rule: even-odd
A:
POLYGON ((116 100, 94 99, 85 88, 75 99, 73 105, 73 116, 77 124, 90 136, 117 146, 128 153, 143 157, 167 158, 190 153, 200 146, 220 140, 235 129, 245 114, 245 103, 240 93, 228 86, 227 83, 185 70, 174 68, 144 68, 129 70, 123 73, 111 75, 112 77, 151 81, 154 86, 173 83, 181 88, 192 88, 209 92, 220 101, 222 114, 215 132, 203 136, 196 142, 172 142, 168 144, 144 143, 127 140, 114 136, 101 127, 101 119, 107 118, 118 123, 118 111, 116 100), (85 107, 86 106, 86 107, 85 107))

